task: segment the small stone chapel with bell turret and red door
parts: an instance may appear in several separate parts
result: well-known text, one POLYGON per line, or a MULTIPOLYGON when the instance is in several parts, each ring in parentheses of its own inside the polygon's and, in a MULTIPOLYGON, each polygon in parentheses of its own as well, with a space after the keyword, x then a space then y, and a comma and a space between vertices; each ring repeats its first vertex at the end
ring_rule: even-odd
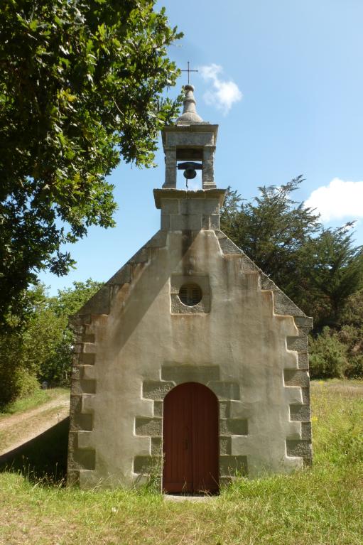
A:
POLYGON ((67 480, 217 492, 312 460, 312 319, 220 230, 218 126, 193 86, 163 129, 161 229, 72 317, 67 480), (201 170, 200 190, 178 189, 201 170))

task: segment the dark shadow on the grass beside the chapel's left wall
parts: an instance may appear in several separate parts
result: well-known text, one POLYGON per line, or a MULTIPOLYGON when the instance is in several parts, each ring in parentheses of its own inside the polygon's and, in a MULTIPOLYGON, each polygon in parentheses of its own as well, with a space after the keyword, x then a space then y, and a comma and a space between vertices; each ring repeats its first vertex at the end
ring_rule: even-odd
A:
POLYGON ((70 419, 0 456, 0 472, 19 473, 31 482, 65 483, 70 419))

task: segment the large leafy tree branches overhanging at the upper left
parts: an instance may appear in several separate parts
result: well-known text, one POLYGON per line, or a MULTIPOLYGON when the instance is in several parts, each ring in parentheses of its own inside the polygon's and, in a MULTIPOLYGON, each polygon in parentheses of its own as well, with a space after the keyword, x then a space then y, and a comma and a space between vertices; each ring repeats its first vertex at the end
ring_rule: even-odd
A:
POLYGON ((3 0, 0 6, 0 324, 40 269, 66 274, 65 242, 110 227, 107 176, 152 166, 180 38, 155 0, 3 0))

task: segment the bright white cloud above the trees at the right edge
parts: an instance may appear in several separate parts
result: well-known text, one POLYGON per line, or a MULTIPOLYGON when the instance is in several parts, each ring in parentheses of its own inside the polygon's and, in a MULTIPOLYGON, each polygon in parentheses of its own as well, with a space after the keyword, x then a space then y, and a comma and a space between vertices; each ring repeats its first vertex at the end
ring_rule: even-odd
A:
POLYGON ((334 178, 311 193, 305 207, 316 208, 323 222, 363 217, 363 181, 350 182, 334 178))

